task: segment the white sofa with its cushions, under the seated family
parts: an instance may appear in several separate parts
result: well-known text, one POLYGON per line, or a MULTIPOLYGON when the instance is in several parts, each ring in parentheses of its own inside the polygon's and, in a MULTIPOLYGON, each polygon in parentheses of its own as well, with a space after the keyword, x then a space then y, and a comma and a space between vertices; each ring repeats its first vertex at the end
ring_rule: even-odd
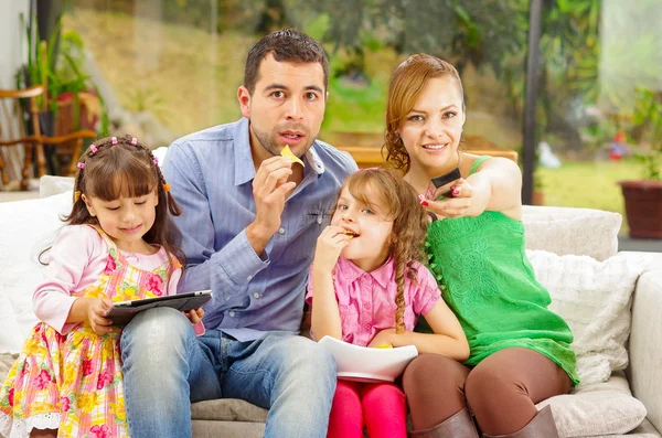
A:
MULTIPOLYGON (((53 195, 0 203, 0 380, 36 321, 31 295, 41 268, 33 259, 71 209, 71 181, 45 177, 42 194, 53 195)), ((615 213, 525 207, 523 222, 528 258, 575 332, 589 383, 541 406, 552 405, 564 437, 660 438, 662 253, 617 254, 615 213)), ((260 437, 266 413, 242 400, 193 404, 194 437, 260 437)))

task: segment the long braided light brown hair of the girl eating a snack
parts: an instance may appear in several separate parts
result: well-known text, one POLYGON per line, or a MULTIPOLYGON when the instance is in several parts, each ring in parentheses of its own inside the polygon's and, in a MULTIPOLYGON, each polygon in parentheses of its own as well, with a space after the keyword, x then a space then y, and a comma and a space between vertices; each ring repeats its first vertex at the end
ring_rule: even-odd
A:
POLYGON ((416 281, 416 261, 424 263, 423 245, 427 232, 427 213, 418 203, 416 191, 394 169, 364 169, 351 174, 344 189, 366 205, 384 207, 393 221, 388 253, 395 266, 397 291, 395 303, 396 332, 405 330, 405 276, 416 281))

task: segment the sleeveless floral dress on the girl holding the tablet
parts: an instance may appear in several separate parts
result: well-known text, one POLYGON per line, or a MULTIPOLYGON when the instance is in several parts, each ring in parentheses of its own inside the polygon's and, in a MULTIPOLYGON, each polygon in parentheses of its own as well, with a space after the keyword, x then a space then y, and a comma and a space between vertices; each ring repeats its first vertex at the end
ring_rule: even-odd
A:
MULTIPOLYGON (((106 268, 100 278, 76 297, 127 301, 163 295, 171 274, 181 268, 171 257, 147 271, 127 263, 115 243, 108 244, 106 268)), ((79 324, 60 334, 44 322, 34 327, 21 354, 0 388, 0 434, 28 437, 32 428, 58 429, 58 437, 128 437, 120 328, 104 335, 79 324)))

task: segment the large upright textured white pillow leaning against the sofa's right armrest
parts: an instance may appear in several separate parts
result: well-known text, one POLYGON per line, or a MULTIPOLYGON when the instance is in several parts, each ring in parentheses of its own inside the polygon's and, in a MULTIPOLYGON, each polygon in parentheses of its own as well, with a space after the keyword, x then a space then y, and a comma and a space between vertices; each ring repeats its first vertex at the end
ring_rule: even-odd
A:
POLYGON ((605 261, 542 250, 526 254, 552 296, 549 309, 573 331, 580 385, 605 382, 612 371, 624 370, 632 291, 650 258, 642 253, 621 253, 605 261))

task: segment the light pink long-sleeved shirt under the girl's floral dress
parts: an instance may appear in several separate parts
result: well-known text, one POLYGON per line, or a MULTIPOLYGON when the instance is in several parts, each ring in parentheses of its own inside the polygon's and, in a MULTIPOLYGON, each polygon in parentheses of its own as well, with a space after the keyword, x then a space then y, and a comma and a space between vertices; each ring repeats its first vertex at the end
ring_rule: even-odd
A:
MULTIPOLYGON (((132 266, 153 270, 169 259, 163 247, 152 255, 134 254, 120 250, 132 266)), ((96 282, 106 267, 108 245, 106 241, 87 225, 63 227, 49 252, 50 264, 44 269, 45 279, 32 296, 34 314, 61 334, 68 333, 78 323, 66 323, 66 318, 77 297, 72 293, 96 282)), ((182 269, 172 271, 166 285, 166 295, 177 293, 177 285, 182 269)), ((204 333, 202 322, 195 325, 195 333, 204 333)))

